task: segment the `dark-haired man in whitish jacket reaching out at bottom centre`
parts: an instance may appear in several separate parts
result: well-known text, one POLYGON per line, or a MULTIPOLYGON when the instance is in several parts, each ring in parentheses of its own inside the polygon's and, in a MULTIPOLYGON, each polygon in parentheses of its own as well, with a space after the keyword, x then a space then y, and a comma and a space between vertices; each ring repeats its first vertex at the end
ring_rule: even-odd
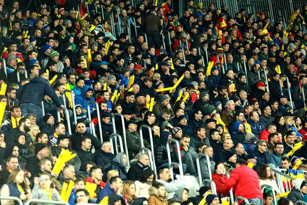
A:
POLYGON ((185 183, 181 180, 172 180, 170 177, 169 169, 166 167, 161 167, 158 169, 158 182, 162 183, 165 187, 165 191, 168 192, 167 199, 173 198, 174 193, 178 189, 184 189, 185 183))

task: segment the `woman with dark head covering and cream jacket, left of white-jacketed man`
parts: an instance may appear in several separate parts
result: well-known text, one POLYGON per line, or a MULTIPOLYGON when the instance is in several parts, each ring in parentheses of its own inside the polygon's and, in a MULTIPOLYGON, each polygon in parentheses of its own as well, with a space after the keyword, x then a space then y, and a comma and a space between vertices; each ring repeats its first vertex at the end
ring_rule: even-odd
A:
POLYGON ((151 186, 152 180, 155 178, 155 173, 151 169, 146 169, 139 176, 136 184, 136 195, 139 197, 149 198, 148 190, 151 186))

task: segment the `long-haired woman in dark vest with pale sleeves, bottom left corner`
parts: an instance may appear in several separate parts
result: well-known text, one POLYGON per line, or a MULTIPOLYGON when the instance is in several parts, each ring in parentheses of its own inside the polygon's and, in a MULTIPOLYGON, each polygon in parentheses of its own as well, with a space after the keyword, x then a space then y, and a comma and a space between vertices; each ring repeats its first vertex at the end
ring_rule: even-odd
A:
MULTIPOLYGON (((29 190, 27 187, 28 186, 24 171, 20 169, 15 169, 12 170, 7 183, 2 186, 0 190, 0 195, 15 196, 21 201, 26 202, 27 200, 32 199, 31 190, 29 190)), ((12 204, 12 201, 1 200, 1 204, 12 204)), ((18 204, 18 202, 15 201, 15 204, 18 204)))

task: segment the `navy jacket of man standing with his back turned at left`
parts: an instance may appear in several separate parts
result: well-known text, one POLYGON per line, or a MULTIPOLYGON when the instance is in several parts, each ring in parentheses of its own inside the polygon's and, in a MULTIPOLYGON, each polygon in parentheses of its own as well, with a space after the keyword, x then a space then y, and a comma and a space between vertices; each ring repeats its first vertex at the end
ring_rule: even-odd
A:
POLYGON ((60 107, 61 101, 57 94, 52 90, 50 85, 42 77, 34 77, 30 83, 20 86, 16 91, 16 96, 19 100, 19 105, 23 103, 32 103, 41 107, 41 101, 48 95, 51 97, 53 103, 60 107))

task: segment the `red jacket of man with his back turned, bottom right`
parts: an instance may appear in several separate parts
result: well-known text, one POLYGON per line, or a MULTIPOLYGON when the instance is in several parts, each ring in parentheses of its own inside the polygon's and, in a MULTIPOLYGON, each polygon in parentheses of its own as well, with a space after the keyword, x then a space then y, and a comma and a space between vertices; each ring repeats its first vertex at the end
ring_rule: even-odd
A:
POLYGON ((243 196, 247 199, 262 199, 258 175, 253 169, 246 165, 241 165, 231 172, 229 179, 224 185, 222 195, 227 196, 232 188, 235 190, 236 197, 243 196))

